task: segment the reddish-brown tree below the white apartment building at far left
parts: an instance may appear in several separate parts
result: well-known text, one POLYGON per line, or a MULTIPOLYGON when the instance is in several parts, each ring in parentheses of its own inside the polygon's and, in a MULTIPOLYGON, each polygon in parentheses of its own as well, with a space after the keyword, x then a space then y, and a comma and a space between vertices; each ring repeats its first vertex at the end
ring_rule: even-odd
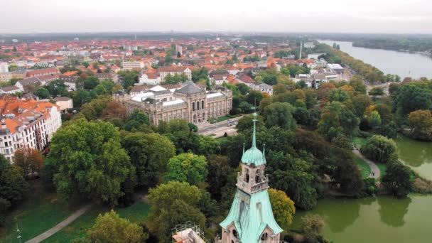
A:
POLYGON ((16 166, 21 168, 21 173, 26 180, 40 173, 43 167, 43 157, 35 148, 18 148, 15 151, 13 161, 16 166))

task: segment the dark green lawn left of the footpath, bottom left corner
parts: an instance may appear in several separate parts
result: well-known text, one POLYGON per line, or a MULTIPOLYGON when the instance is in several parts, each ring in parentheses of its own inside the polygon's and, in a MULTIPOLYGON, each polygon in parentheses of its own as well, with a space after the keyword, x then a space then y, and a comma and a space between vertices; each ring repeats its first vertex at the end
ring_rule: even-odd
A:
POLYGON ((80 203, 58 200, 54 192, 43 189, 40 180, 30 182, 29 198, 6 216, 6 227, 0 235, 0 242, 18 242, 16 226, 21 231, 21 241, 38 236, 59 222, 65 220, 80 207, 80 203))

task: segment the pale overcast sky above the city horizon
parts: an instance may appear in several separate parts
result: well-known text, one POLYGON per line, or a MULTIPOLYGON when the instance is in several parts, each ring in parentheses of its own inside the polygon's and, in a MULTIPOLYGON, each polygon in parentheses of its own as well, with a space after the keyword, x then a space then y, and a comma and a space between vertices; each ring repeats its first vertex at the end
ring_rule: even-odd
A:
POLYGON ((0 33, 432 33, 431 0, 0 1, 0 33))

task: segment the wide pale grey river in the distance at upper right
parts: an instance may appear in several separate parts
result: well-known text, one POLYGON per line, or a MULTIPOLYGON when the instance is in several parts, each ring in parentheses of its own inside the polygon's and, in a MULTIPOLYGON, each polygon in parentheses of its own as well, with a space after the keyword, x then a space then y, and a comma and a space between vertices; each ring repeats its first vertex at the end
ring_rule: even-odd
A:
POLYGON ((330 46, 333 43, 340 45, 340 50, 350 54, 353 58, 374 65, 385 74, 396 74, 404 77, 428 77, 432 78, 432 58, 417 53, 403 53, 394 50, 369 49, 352 46, 347 41, 319 41, 330 46))

